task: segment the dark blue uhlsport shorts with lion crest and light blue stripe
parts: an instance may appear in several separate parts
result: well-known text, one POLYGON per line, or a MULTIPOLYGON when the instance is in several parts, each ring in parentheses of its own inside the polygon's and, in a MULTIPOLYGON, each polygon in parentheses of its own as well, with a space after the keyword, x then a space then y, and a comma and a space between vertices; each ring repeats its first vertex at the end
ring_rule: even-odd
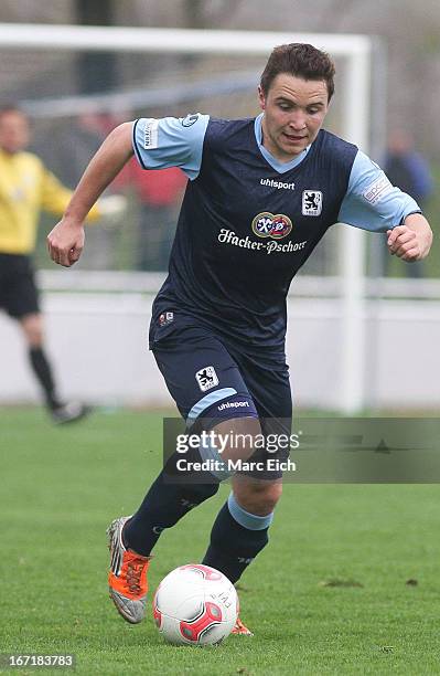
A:
MULTIPOLYGON (((264 434, 291 433, 292 400, 283 355, 244 349, 189 317, 167 313, 152 320, 150 349, 171 397, 186 421, 203 429, 242 416, 258 418, 264 434)), ((253 461, 283 461, 289 448, 256 452, 253 461)), ((279 478, 282 472, 261 478, 279 478)))

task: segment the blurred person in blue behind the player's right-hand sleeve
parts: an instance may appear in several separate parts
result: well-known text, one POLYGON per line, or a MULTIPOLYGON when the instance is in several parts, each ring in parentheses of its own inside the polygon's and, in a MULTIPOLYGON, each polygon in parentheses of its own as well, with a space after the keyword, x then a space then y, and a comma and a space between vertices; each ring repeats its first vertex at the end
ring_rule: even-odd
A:
MULTIPOLYGON (((411 137, 401 129, 394 130, 388 140, 388 150, 384 166, 385 173, 394 186, 410 194, 420 209, 425 209, 432 194, 433 181, 427 160, 414 149, 411 137)), ((387 272, 388 250, 383 250, 383 270, 387 272)), ((408 277, 423 276, 423 261, 404 263, 408 277)))

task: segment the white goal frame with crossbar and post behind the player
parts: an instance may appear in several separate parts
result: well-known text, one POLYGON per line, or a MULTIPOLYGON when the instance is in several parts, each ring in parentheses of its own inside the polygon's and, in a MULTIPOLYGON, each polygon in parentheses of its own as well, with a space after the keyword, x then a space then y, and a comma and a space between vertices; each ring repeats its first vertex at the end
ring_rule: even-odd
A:
MULTIPOLYGON (((3 50, 269 55, 273 46, 289 42, 308 42, 345 59, 339 94, 342 135, 367 152, 373 44, 367 35, 0 23, 3 50)), ((344 228, 341 241, 343 345, 336 399, 340 411, 353 414, 363 408, 365 395, 365 233, 344 228)))

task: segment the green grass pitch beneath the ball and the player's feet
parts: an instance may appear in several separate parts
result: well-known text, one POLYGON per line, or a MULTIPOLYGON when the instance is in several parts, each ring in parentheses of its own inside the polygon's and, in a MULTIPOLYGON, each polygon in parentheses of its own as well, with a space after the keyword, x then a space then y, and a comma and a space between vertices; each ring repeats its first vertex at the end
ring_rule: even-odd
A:
MULTIPOLYGON (((75 653, 84 675, 440 674, 438 485, 286 485, 239 592, 254 638, 172 647, 151 614, 125 623, 105 529, 136 509, 160 446, 158 414, 52 427, 40 410, 0 410, 0 652, 75 653)), ((201 559, 227 493, 162 536, 151 588, 201 559)))

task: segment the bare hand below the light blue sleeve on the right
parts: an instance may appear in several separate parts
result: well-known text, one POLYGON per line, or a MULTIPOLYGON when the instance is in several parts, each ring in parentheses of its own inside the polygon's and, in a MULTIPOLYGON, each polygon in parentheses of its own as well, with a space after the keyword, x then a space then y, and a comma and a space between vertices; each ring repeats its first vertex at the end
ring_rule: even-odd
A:
POLYGON ((421 261, 432 244, 431 228, 421 213, 411 213, 403 225, 387 231, 389 253, 407 262, 421 261))

